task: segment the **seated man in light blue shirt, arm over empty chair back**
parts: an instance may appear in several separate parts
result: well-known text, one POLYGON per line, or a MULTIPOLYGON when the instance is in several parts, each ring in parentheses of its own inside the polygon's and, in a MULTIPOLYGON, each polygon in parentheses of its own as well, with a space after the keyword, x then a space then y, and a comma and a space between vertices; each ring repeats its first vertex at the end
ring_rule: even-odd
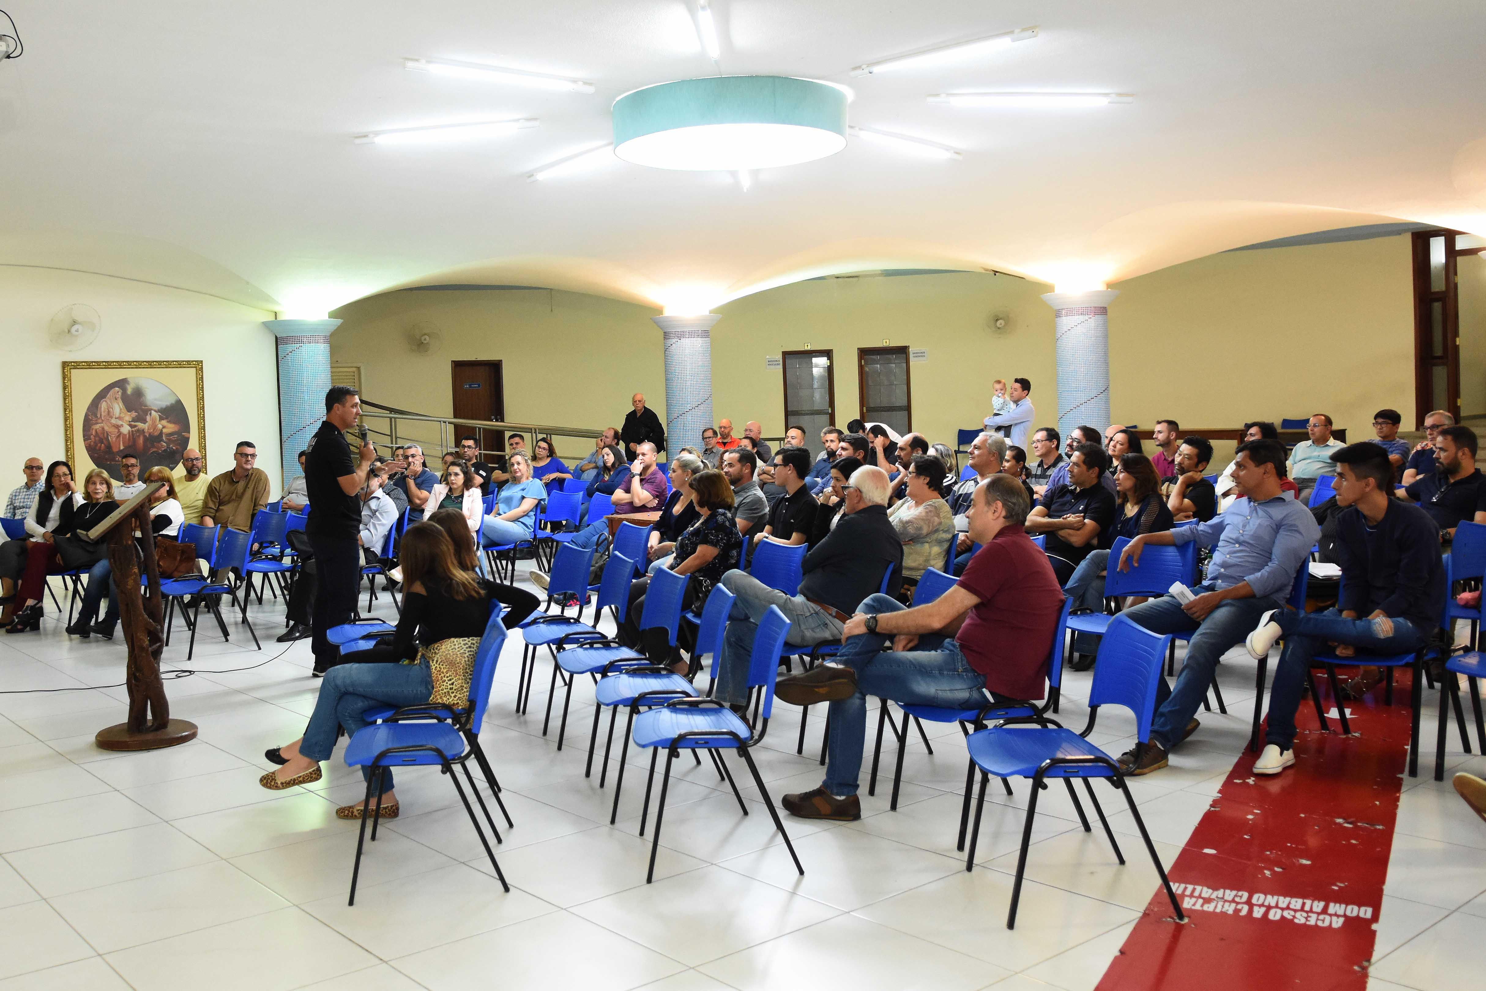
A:
POLYGON ((1198 728, 1193 719, 1217 672, 1219 658, 1244 642, 1259 617, 1284 605, 1296 575, 1321 536, 1311 510, 1281 492, 1285 449, 1276 440, 1251 440, 1233 456, 1233 490, 1241 496, 1207 523, 1164 533, 1141 533, 1125 545, 1119 569, 1140 563, 1149 544, 1181 545, 1196 541, 1214 547, 1207 581, 1192 590, 1186 605, 1174 596, 1152 599, 1126 609, 1152 633, 1192 630, 1177 686, 1162 678, 1156 685, 1156 718, 1150 741, 1120 755, 1125 774, 1150 774, 1167 767, 1167 755, 1198 728))

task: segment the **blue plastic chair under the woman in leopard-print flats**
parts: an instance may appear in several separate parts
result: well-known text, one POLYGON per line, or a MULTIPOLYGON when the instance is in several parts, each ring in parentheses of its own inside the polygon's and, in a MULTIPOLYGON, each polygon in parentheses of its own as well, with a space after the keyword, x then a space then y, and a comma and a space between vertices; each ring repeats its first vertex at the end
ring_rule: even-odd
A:
MULTIPOLYGON (((495 862, 495 851, 490 850, 490 842, 484 838, 484 831, 480 828, 480 820, 476 819, 470 798, 459 783, 459 776, 455 774, 456 765, 464 770, 470 790, 474 792, 474 798, 480 804, 480 811, 484 813, 484 820, 490 826, 495 841, 501 842, 501 832, 495 828, 490 810, 486 807, 484 798, 480 796, 480 789, 476 787, 474 777, 470 774, 470 758, 474 756, 492 782, 493 792, 493 774, 489 773, 489 765, 484 761, 484 753, 478 749, 478 741, 470 738, 470 731, 478 731, 480 721, 484 718, 484 709, 490 701, 490 686, 495 680, 495 666, 501 660, 501 646, 504 643, 505 627, 501 626, 499 611, 492 611, 490 621, 484 627, 484 636, 480 637, 474 670, 470 676, 470 700, 473 704, 468 712, 432 703, 409 706, 376 716, 380 719, 379 724, 367 727, 351 737, 351 743, 346 744, 346 767, 367 767, 372 768, 372 773, 367 776, 366 799, 361 804, 361 832, 357 838, 357 859, 351 868, 351 899, 346 905, 357 903, 357 880, 361 875, 361 850, 366 845, 367 819, 372 819, 372 842, 376 842, 377 825, 382 820, 383 776, 380 768, 388 767, 440 767, 449 776, 449 780, 455 783, 459 801, 464 802, 465 811, 470 814, 474 832, 480 836, 480 845, 484 847, 486 856, 490 857, 490 866, 495 869, 495 877, 501 881, 501 888, 505 891, 511 890, 511 886, 505 883, 505 875, 501 872, 501 865, 495 862), (376 808, 372 807, 373 786, 377 796, 376 808)), ((499 795, 496 795, 496 801, 499 802, 499 795)), ((502 804, 501 808, 504 811, 505 805, 502 804)), ((507 817, 507 822, 510 822, 510 817, 507 817)))

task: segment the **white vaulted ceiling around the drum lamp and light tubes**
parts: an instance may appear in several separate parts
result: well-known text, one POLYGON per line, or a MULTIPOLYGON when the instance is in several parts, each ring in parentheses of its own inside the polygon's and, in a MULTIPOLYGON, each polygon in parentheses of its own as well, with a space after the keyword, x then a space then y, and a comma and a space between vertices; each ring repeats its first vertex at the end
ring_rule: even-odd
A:
POLYGON ((550 285, 655 305, 868 267, 994 267, 1065 287, 1388 220, 1486 230, 1486 4, 1190 0, 3 0, 0 263, 86 267, 324 312, 400 285, 550 285), (851 77, 1039 25, 985 55, 851 77), (572 76, 593 94, 410 73, 404 56, 572 76), (759 172, 611 160, 620 94, 713 74, 849 85, 851 138, 759 172), (1120 92, 1128 105, 958 108, 955 91, 1120 92), (355 144, 471 119, 461 144, 355 144), (1476 143, 1476 144, 1471 144, 1476 143), (1470 146, 1470 147, 1468 147, 1470 146))

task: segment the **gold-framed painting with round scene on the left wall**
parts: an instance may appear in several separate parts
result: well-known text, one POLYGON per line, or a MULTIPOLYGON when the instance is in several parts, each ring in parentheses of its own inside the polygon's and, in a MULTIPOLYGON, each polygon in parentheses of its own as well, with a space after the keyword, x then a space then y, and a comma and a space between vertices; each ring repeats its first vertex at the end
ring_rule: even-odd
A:
POLYGON ((141 478, 158 465, 175 474, 187 447, 207 456, 199 361, 64 361, 62 417, 73 478, 103 468, 122 481, 125 455, 141 478))

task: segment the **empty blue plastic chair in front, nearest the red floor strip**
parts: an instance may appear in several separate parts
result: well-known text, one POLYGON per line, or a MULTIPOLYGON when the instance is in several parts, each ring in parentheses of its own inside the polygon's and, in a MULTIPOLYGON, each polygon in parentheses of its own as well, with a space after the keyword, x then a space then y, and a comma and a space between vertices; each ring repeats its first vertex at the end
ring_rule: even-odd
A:
POLYGON ((1125 854, 1120 853, 1119 844, 1114 841, 1114 831, 1110 829, 1109 820, 1104 819, 1104 810, 1100 808, 1100 799, 1094 795, 1094 786, 1088 779, 1109 779, 1110 784, 1125 795, 1129 814, 1140 829, 1141 839, 1146 841, 1150 862, 1156 865, 1161 884, 1167 890, 1167 897, 1171 899, 1171 909, 1175 912, 1177 921, 1186 921, 1186 915, 1181 914, 1181 903, 1177 900, 1177 893, 1171 890, 1167 869, 1161 865, 1161 856, 1156 853, 1156 845, 1150 841, 1150 834, 1146 832, 1146 823, 1140 817, 1140 810, 1135 807, 1135 799, 1131 796, 1129 787, 1125 784, 1125 776, 1120 774, 1119 764, 1086 738, 1094 730, 1094 722, 1098 718, 1101 706, 1122 706, 1129 709, 1135 716, 1135 738, 1138 740, 1135 753, 1138 759, 1146 743, 1150 740, 1150 722, 1156 712, 1156 682, 1161 680, 1161 664, 1167 655, 1169 642, 1169 636, 1150 633, 1128 617, 1116 617, 1104 634, 1100 663, 1094 669, 1094 685, 1089 689, 1089 725, 1082 732, 1065 730, 1046 716, 1036 716, 1027 722, 1036 722, 1037 725, 991 727, 990 730, 972 732, 966 740, 970 759, 981 768, 975 826, 970 831, 970 850, 964 857, 966 871, 975 868, 975 845, 981 834, 981 813, 985 808, 985 784, 990 776, 994 774, 1003 779, 1027 777, 1033 783, 1031 796, 1027 799, 1027 820, 1022 828, 1021 854, 1016 859, 1016 881, 1012 884, 1012 903, 1006 915, 1006 929, 1016 927, 1016 903, 1021 900, 1021 883, 1027 869, 1031 823, 1037 814, 1037 796, 1043 789, 1043 782, 1049 777, 1062 779, 1068 789, 1068 796, 1073 799, 1073 807, 1079 813, 1083 831, 1092 832, 1089 820, 1083 814, 1083 805, 1079 802, 1079 795, 1073 790, 1071 780, 1074 777, 1085 779, 1083 789, 1088 792, 1089 801, 1094 802, 1094 811, 1098 813, 1100 825, 1104 826, 1104 835, 1109 838, 1110 847, 1114 848, 1114 857, 1120 865, 1125 863, 1125 854))

